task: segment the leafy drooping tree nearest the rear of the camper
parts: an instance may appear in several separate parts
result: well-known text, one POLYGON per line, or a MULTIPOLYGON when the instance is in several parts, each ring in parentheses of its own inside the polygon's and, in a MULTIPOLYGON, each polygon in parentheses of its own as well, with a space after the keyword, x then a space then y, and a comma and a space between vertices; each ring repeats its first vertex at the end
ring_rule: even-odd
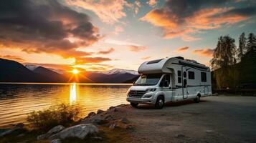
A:
POLYGON ((237 83, 237 74, 232 66, 236 63, 236 46, 230 36, 220 36, 214 49, 213 59, 210 61, 214 69, 217 87, 230 87, 237 83), (235 76, 235 77, 234 77, 235 76))

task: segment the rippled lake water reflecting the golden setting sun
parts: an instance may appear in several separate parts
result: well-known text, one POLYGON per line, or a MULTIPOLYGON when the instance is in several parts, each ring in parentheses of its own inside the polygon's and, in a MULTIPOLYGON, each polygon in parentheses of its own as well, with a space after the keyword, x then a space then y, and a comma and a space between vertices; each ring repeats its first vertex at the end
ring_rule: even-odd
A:
POLYGON ((82 117, 127 104, 129 87, 131 84, 0 84, 0 127, 26 123, 29 112, 61 103, 81 107, 82 117))

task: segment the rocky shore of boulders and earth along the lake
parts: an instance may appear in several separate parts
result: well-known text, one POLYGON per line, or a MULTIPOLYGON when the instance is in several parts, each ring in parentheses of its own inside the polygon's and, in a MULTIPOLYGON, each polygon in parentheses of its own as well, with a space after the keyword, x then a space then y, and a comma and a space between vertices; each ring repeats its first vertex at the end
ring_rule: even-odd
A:
MULTIPOLYGON (((100 134, 115 134, 116 130, 118 132, 131 132, 134 129, 133 124, 123 114, 120 115, 121 112, 124 112, 123 107, 127 106, 121 104, 117 107, 110 107, 107 111, 99 109, 96 113, 90 112, 77 124, 71 127, 57 125, 49 129, 48 132, 37 135, 36 141, 33 142, 61 143, 69 142, 70 139, 78 139, 77 142, 82 140, 102 141, 103 137, 100 137, 100 134)), ((27 133, 29 130, 24 128, 24 124, 19 123, 9 129, 1 129, 0 139, 1 137, 24 137, 27 133)))

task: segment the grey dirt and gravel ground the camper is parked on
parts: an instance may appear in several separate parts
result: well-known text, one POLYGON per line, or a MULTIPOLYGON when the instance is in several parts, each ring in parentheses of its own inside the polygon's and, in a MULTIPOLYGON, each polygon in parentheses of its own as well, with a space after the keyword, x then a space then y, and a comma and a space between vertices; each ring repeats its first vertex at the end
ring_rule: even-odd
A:
POLYGON ((206 97, 202 102, 123 107, 133 142, 256 142, 256 97, 206 97))

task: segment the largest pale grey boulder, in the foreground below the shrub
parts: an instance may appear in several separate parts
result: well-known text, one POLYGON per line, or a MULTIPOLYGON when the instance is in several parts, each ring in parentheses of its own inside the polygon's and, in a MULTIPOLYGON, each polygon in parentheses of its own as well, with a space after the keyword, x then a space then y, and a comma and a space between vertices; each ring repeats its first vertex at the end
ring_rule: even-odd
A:
POLYGON ((53 134, 49 139, 66 139, 68 137, 85 139, 88 134, 95 134, 96 132, 98 132, 98 128, 93 124, 77 124, 62 130, 57 134, 53 134))

